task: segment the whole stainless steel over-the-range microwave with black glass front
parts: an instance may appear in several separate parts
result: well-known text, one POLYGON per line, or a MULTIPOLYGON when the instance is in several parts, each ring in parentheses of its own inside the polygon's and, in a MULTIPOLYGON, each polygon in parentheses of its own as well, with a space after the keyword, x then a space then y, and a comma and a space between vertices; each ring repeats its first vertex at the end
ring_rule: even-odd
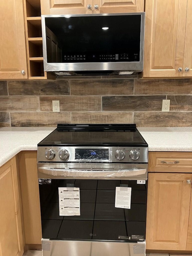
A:
POLYGON ((44 71, 55 75, 143 70, 145 13, 42 15, 44 71))

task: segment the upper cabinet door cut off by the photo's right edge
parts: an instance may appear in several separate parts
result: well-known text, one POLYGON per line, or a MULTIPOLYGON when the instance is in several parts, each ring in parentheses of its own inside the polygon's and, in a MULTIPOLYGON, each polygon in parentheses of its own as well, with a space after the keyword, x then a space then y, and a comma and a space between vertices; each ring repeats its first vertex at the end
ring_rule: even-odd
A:
POLYGON ((183 76, 192 77, 192 1, 187 1, 187 23, 186 23, 186 37, 185 37, 185 51, 183 63, 183 76), (185 68, 189 68, 186 72, 185 68))

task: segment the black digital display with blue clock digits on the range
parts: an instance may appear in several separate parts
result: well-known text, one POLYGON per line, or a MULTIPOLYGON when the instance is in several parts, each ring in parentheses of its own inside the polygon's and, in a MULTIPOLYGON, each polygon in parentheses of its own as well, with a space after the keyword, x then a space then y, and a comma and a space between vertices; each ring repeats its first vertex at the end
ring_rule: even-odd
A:
POLYGON ((75 149, 75 159, 109 160, 109 149, 75 149))

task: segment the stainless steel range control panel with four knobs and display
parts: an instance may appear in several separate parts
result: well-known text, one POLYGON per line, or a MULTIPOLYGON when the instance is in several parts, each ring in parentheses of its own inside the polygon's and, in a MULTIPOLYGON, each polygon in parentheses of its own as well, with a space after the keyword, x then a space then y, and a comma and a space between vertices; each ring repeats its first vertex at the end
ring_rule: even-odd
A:
POLYGON ((38 147, 38 162, 148 162, 148 147, 38 147))

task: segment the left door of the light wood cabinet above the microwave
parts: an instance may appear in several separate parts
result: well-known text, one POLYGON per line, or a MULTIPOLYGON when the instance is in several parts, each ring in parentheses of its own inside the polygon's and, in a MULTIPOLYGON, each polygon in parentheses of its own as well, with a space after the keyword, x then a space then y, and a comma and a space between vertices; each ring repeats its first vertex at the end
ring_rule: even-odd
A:
POLYGON ((92 3, 93 0, 41 0, 41 14, 91 14, 92 3))

